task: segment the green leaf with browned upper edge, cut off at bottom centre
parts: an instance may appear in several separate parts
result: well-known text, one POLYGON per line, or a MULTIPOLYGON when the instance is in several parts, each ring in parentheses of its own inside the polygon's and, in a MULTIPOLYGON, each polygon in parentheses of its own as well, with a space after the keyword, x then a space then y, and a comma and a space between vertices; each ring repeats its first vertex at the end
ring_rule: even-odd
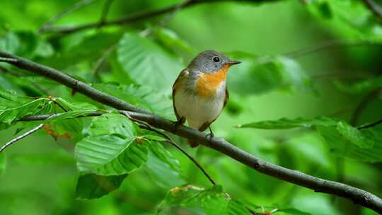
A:
POLYGON ((160 214, 172 207, 199 207, 207 215, 250 215, 250 211, 245 208, 242 202, 231 199, 219 185, 208 189, 194 185, 175 187, 168 192, 166 198, 159 205, 158 213, 160 214))

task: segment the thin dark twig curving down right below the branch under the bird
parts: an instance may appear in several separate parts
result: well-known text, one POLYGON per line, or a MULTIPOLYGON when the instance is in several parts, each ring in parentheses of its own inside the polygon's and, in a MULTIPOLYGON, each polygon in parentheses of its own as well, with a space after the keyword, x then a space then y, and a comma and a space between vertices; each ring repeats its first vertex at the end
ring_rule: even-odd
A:
POLYGON ((182 147, 180 147, 175 141, 173 141, 173 139, 171 138, 170 135, 166 134, 165 132, 162 132, 161 130, 159 129, 156 129, 154 127, 152 127, 150 124, 148 124, 147 122, 144 122, 142 120, 137 120, 137 119, 134 119, 133 117, 131 117, 129 115, 129 112, 126 112, 126 111, 120 111, 120 113, 122 115, 125 115, 127 118, 129 118, 129 120, 132 120, 133 122, 137 122, 139 124, 142 124, 144 127, 146 127, 146 129, 152 131, 152 132, 156 132, 157 134, 163 136, 164 138, 167 139, 167 142, 170 143, 171 145, 175 146, 176 149, 178 149, 179 151, 181 151, 183 154, 185 154, 185 156, 187 156, 187 158, 189 158, 192 163, 195 163, 195 165, 197 166, 197 168, 199 168, 199 170, 202 171, 202 173, 208 178, 208 180, 212 183, 212 185, 216 185, 216 182, 212 179, 212 177, 207 173, 206 170, 204 170, 204 168, 202 167, 202 165, 199 164, 199 162, 197 162, 195 160, 195 158, 193 158, 187 151, 185 151, 185 149, 183 149, 182 147))

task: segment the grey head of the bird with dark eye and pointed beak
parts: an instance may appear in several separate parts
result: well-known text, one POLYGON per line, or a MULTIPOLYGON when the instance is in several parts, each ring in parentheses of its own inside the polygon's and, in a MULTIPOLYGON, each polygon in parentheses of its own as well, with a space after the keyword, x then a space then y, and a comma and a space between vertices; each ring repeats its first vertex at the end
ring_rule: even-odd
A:
POLYGON ((240 64, 236 60, 229 59, 226 55, 221 54, 213 50, 207 50, 200 54, 197 54, 197 57, 192 59, 192 62, 187 66, 191 71, 201 71, 204 73, 214 73, 219 71, 224 66, 240 64))

